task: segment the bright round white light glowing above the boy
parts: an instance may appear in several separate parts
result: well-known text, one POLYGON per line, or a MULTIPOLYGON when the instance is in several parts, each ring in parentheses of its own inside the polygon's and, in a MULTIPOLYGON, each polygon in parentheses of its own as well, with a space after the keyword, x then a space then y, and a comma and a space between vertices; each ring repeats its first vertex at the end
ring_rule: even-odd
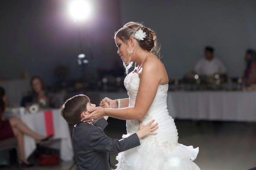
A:
POLYGON ((91 12, 90 4, 87 0, 70 0, 68 4, 68 13, 75 21, 86 20, 91 12))

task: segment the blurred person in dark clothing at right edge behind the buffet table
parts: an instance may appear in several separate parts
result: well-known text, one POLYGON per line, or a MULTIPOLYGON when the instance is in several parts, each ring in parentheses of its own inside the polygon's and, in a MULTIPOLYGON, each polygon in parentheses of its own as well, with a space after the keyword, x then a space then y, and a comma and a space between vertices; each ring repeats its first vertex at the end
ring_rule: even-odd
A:
POLYGON ((245 53, 246 68, 243 79, 247 87, 256 85, 256 51, 247 49, 245 53))

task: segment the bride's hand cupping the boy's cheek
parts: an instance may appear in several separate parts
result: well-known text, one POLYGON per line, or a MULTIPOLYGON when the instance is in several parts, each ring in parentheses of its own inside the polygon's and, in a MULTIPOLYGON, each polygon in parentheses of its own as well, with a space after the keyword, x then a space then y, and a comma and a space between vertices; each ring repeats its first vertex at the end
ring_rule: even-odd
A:
POLYGON ((102 107, 96 107, 96 108, 93 108, 93 109, 89 109, 88 111, 90 112, 90 114, 87 115, 87 116, 84 116, 81 119, 81 122, 92 123, 96 120, 99 120, 103 116, 106 116, 105 112, 104 112, 104 108, 102 108, 102 107))

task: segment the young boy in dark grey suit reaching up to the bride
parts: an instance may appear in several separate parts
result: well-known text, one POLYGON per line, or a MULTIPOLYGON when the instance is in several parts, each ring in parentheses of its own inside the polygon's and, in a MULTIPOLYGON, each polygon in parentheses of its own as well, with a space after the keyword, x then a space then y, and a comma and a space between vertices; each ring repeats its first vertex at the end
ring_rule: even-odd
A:
MULTIPOLYGON (((107 105, 107 104, 106 104, 107 105)), ((108 125, 104 117, 93 124, 80 120, 90 114, 87 110, 94 108, 85 95, 77 95, 68 99, 61 108, 64 119, 74 125, 72 142, 76 156, 77 170, 110 170, 109 152, 119 153, 140 145, 140 139, 148 135, 156 135, 157 123, 154 120, 125 139, 112 139, 105 135, 103 129, 108 125)), ((108 106, 107 106, 108 107, 108 106)))

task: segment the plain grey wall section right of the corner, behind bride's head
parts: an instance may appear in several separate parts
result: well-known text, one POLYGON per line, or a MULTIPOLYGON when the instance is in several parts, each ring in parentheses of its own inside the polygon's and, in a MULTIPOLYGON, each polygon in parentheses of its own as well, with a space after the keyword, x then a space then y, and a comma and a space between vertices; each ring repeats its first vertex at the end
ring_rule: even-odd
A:
POLYGON ((241 76, 247 48, 256 47, 256 1, 122 0, 121 23, 143 22, 157 32, 169 77, 182 77, 204 57, 204 46, 241 76))

